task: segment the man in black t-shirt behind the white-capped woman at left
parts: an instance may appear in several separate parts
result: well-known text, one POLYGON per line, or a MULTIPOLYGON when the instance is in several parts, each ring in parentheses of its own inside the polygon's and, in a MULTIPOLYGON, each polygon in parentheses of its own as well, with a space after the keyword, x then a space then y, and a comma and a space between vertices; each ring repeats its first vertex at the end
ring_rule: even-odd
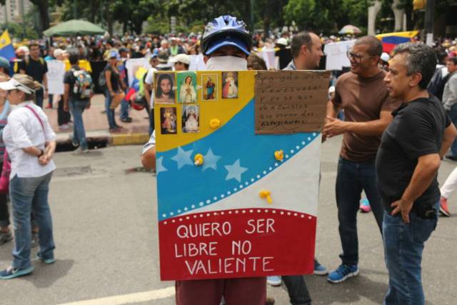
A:
POLYGON ((43 84, 44 89, 35 91, 36 105, 43 106, 43 98, 48 99, 48 65, 46 61, 40 56, 40 46, 32 43, 29 45, 30 56, 19 63, 19 73, 31 76, 35 81, 43 84), (43 94, 44 91, 44 94, 43 94))

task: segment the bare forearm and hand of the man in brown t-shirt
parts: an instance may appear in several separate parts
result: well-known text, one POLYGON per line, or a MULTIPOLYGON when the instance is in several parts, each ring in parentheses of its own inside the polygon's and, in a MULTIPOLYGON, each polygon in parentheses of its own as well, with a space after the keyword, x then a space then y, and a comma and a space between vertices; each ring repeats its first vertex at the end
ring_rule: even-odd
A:
POLYGON ((379 119, 366 122, 341 121, 334 117, 327 116, 328 123, 323 126, 323 133, 326 136, 338 136, 345 132, 353 132, 363 136, 378 136, 383 133, 384 129, 391 123, 393 116, 391 111, 381 111, 379 119))

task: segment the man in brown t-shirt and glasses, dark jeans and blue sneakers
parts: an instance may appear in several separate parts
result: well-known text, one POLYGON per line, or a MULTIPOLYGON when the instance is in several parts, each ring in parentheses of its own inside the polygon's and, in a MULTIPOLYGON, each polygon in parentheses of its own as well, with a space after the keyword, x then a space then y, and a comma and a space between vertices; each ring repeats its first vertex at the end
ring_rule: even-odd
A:
POLYGON ((376 37, 358 39, 348 51, 351 71, 338 78, 335 95, 327 105, 324 139, 343 134, 336 176, 343 254, 340 255, 342 264, 328 275, 332 283, 358 274, 357 211, 362 191, 370 201, 379 230, 382 229, 384 211, 376 181, 375 158, 381 134, 392 121, 391 111, 399 103, 388 96, 383 82, 386 73, 378 68, 381 53, 382 44, 376 37), (341 109, 346 121, 335 119, 341 109))

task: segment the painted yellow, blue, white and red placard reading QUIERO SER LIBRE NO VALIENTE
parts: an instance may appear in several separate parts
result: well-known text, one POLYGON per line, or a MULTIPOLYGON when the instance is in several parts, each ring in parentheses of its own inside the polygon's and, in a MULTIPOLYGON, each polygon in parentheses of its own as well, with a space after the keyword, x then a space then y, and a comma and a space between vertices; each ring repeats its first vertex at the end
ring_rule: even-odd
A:
POLYGON ((311 274, 317 127, 256 134, 256 71, 196 71, 195 87, 173 73, 155 76, 167 103, 154 105, 161 279, 311 274))

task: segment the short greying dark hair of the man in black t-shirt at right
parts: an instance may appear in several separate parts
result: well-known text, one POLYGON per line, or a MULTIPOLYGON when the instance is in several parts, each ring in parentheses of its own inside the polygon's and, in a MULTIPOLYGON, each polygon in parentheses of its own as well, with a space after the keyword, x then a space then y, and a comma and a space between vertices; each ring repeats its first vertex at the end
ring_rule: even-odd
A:
POLYGON ((436 69, 435 51, 422 42, 406 42, 404 44, 398 44, 393 49, 393 56, 403 53, 407 54, 405 66, 408 70, 408 75, 420 73, 422 79, 419 82, 419 87, 421 89, 427 89, 428 83, 436 69))

